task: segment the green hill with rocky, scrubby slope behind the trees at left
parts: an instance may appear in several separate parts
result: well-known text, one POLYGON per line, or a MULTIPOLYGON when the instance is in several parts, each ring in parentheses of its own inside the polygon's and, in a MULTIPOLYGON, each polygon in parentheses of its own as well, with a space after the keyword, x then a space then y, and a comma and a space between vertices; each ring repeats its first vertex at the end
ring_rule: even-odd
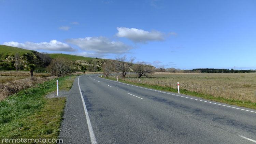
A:
POLYGON ((45 71, 51 61, 50 58, 56 59, 58 57, 66 58, 72 61, 74 70, 91 70, 96 64, 97 70, 101 71, 102 63, 105 59, 90 58, 68 54, 41 54, 37 51, 31 51, 23 48, 0 45, 0 70, 14 70, 15 55, 19 54, 21 70, 26 70, 28 63, 34 63, 37 66, 37 71, 45 71), (47 58, 48 57, 48 58, 47 58), (49 59, 49 60, 47 60, 49 59))

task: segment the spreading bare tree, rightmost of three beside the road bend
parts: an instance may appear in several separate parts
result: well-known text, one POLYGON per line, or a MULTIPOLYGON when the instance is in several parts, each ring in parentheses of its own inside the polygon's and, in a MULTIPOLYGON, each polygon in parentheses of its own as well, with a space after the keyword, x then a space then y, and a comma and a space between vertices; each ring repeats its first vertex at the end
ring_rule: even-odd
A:
POLYGON ((153 72, 153 69, 151 66, 146 65, 145 62, 137 62, 136 65, 134 65, 133 70, 138 73, 138 78, 140 78, 141 76, 146 76, 148 74, 151 74, 153 72))

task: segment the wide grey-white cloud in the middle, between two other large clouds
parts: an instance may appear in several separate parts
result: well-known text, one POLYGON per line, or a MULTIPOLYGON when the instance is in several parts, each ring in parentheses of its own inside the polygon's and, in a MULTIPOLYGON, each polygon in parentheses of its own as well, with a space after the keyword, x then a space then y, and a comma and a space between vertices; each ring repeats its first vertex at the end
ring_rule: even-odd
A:
POLYGON ((96 53, 112 53, 123 54, 128 53, 134 47, 126 45, 120 41, 110 41, 105 37, 86 37, 78 39, 67 39, 68 43, 79 46, 85 51, 93 51, 96 53))

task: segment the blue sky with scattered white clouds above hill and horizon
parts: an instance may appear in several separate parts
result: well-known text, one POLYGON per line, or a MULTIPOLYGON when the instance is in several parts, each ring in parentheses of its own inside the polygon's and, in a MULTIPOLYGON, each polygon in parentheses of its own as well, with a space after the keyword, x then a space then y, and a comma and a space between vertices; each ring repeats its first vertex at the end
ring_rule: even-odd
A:
POLYGON ((0 44, 165 68, 256 69, 256 1, 0 0, 0 44))

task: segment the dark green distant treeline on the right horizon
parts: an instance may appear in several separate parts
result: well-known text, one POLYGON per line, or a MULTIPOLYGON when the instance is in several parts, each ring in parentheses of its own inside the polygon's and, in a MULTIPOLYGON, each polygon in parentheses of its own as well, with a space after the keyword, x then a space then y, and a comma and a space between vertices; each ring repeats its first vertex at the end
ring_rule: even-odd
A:
POLYGON ((234 70, 234 69, 193 69, 191 71, 200 71, 201 73, 249 73, 256 72, 256 70, 234 70))

